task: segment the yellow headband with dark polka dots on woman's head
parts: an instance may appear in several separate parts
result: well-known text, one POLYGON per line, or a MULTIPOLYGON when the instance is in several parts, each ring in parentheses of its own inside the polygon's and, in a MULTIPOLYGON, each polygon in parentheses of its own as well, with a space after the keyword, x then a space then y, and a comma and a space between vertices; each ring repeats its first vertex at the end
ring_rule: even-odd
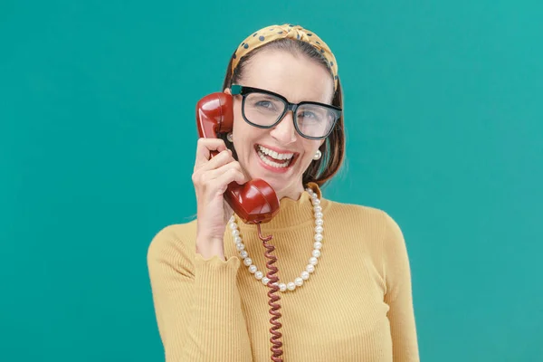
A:
POLYGON ((256 33, 252 33, 243 41, 233 54, 232 73, 238 65, 238 62, 252 50, 277 39, 290 38, 310 43, 326 58, 329 63, 329 70, 334 76, 334 89, 338 89, 338 63, 329 46, 324 43, 317 34, 302 28, 299 25, 283 24, 271 25, 262 28, 256 33))

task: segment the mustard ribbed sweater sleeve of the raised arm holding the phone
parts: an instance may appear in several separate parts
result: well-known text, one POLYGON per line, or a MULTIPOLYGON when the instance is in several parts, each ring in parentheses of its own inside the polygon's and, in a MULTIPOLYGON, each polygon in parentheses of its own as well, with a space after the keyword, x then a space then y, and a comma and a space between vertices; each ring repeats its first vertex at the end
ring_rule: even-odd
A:
POLYGON ((205 260, 168 226, 148 248, 158 331, 167 362, 252 360, 237 258, 205 260), (192 252, 192 255, 191 255, 192 252))

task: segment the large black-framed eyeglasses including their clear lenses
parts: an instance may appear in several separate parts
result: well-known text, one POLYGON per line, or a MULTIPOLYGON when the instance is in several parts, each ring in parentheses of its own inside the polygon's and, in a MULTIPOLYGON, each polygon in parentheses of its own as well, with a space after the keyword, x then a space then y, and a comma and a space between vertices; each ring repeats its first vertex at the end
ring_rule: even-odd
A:
POLYGON ((341 117, 341 109, 329 104, 302 101, 289 102, 281 94, 270 90, 243 87, 234 84, 232 95, 241 95, 243 119, 260 129, 271 129, 281 122, 289 110, 292 111, 294 128, 303 138, 323 139, 331 133, 341 117))

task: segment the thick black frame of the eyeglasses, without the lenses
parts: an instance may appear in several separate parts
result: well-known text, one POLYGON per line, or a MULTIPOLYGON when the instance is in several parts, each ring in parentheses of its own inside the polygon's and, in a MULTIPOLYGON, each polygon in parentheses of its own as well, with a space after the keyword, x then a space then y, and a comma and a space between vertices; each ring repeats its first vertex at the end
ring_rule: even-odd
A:
POLYGON ((324 139, 324 138, 329 137, 330 133, 332 133, 332 131, 334 130, 334 127, 336 127, 336 123, 338 122, 338 119, 341 117, 341 113, 342 113, 342 110, 340 108, 338 108, 336 106, 332 106, 330 104, 326 104, 326 103, 319 103, 319 102, 309 101, 309 100, 300 101, 300 103, 291 103, 285 97, 281 96, 281 94, 274 93, 274 92, 272 92, 270 90, 261 90, 259 88, 244 87, 244 86, 239 85, 239 84, 233 84, 232 87, 230 87, 230 90, 232 92, 232 95, 241 95, 242 96, 242 116, 243 116, 243 119, 245 120, 245 122, 247 122, 251 126, 257 127, 259 129, 271 129, 271 128, 277 126, 281 122, 281 120, 285 117, 287 112, 289 110, 291 110, 292 111, 292 121, 294 122, 294 128, 296 129, 296 131, 298 132, 298 134, 301 137, 308 138, 308 139, 324 139), (285 109, 281 113, 281 116, 279 116, 278 119, 273 124, 271 124, 270 126, 262 126, 262 125, 252 123, 252 121, 247 119, 247 117, 245 116, 245 99, 246 99, 247 95, 249 95, 251 93, 268 94, 268 95, 279 98, 280 100, 282 100, 285 103, 285 109), (297 119, 297 116, 296 116, 296 110, 298 110, 298 108, 300 106, 303 106, 305 104, 313 104, 313 105, 324 107, 324 108, 330 110, 331 112, 333 112, 337 116, 336 119, 334 120, 334 123, 330 127, 329 132, 325 136, 311 137, 311 136, 307 136, 307 135, 304 135, 303 133, 301 133, 300 129, 298 128, 298 119, 297 119))

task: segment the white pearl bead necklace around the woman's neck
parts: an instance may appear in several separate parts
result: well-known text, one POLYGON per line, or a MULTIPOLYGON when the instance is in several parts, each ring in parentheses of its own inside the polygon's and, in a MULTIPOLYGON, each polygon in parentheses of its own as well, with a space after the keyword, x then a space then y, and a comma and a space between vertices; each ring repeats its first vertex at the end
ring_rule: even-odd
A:
MULTIPOLYGON (((319 196, 310 188, 306 188, 306 191, 311 196, 311 204, 313 204, 313 211, 315 212, 315 243, 313 243, 313 252, 311 252, 312 256, 310 257, 310 263, 306 266, 305 271, 301 271, 298 278, 288 283, 280 282, 277 285, 279 287, 279 291, 282 292, 294 291, 296 287, 301 287, 304 281, 310 279, 310 274, 315 271, 315 265, 317 265, 317 262, 319 262, 320 249, 322 248, 322 232, 324 231, 322 227, 322 224, 324 224, 324 220, 322 219, 322 207, 320 206, 319 196)), ((235 217, 232 216, 230 218, 228 226, 232 231, 233 243, 235 243, 235 247, 243 259, 243 264, 248 267, 249 272, 254 275, 254 278, 256 278, 257 281, 262 281, 262 284, 267 286, 270 279, 265 277, 264 273, 259 271, 257 266, 252 263, 252 259, 249 257, 249 252, 245 250, 245 245, 243 244, 238 225, 235 223, 235 217)))

